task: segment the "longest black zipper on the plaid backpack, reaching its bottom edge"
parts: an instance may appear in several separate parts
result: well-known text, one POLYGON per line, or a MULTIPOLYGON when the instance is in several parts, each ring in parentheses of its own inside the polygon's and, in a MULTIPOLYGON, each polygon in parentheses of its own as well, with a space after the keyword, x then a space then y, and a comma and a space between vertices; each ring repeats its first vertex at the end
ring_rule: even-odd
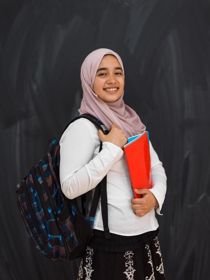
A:
POLYGON ((47 197, 49 199, 49 202, 50 202, 50 205, 51 205, 51 208, 52 208, 52 212, 53 212, 53 216, 55 218, 55 222, 57 224, 57 227, 59 229, 59 232, 61 234, 61 238, 62 238, 62 241, 63 241, 63 245, 64 245, 64 248, 65 248, 65 252, 66 252, 66 260, 65 261, 68 261, 69 260, 69 250, 67 248, 67 242, 66 242, 66 239, 65 239, 65 236, 62 232, 62 230, 60 229, 60 226, 59 226, 59 223, 57 221, 57 210, 55 209, 55 204, 54 204, 54 201, 53 201, 53 198, 52 198, 52 195, 50 193, 50 190, 49 190, 49 186, 47 184, 47 181, 46 181, 46 178, 45 178, 45 174, 44 174, 44 171, 43 171, 43 168, 42 168, 42 163, 41 163, 41 160, 39 161, 39 171, 40 171, 40 174, 41 174, 41 178, 42 178, 42 181, 43 181, 43 184, 45 185, 45 190, 47 192, 47 197))

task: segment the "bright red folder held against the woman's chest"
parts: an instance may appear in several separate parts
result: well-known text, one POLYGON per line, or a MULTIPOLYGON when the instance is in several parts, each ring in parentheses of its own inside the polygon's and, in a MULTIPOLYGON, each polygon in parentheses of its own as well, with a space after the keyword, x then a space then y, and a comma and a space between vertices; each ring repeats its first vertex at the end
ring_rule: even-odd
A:
POLYGON ((135 198, 141 198, 141 194, 134 189, 151 189, 152 173, 147 131, 124 145, 124 152, 131 177, 131 185, 135 198))

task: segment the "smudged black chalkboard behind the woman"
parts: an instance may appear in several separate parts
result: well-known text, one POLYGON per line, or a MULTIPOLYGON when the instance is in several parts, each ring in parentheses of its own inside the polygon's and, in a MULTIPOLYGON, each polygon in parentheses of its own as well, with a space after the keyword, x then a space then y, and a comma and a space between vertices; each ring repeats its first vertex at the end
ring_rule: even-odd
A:
POLYGON ((79 259, 53 263, 33 247, 15 189, 79 115, 81 64, 98 48, 121 56, 124 101, 166 171, 165 277, 210 279, 210 2, 7 0, 0 34, 0 279, 77 278, 79 259))

